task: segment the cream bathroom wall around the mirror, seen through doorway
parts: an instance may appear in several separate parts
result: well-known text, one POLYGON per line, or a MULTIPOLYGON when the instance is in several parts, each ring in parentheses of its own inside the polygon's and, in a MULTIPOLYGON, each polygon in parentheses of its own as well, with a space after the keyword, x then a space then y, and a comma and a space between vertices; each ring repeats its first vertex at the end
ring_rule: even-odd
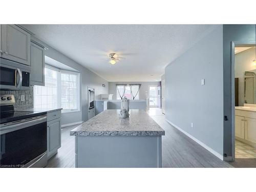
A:
POLYGON ((234 77, 238 79, 239 106, 244 105, 244 72, 256 69, 252 62, 255 59, 255 48, 250 48, 234 55, 234 77))

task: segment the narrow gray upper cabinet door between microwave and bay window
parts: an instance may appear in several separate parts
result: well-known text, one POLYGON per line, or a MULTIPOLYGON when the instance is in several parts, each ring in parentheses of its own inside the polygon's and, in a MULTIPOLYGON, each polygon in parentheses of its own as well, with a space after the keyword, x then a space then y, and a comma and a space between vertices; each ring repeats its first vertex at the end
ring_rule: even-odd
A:
POLYGON ((45 86, 45 50, 31 42, 31 79, 30 84, 45 86))

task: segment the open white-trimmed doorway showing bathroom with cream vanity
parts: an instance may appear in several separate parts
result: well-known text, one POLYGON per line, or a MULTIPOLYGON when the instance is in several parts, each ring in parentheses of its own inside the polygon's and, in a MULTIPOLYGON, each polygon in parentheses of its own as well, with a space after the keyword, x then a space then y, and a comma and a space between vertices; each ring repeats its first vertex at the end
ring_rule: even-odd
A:
POLYGON ((233 165, 256 167, 256 48, 255 42, 232 42, 233 165))

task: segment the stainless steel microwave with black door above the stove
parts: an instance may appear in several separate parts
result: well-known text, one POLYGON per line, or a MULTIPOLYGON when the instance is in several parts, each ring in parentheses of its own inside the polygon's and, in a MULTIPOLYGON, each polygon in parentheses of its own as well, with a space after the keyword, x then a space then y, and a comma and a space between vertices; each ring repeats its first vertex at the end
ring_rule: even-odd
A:
POLYGON ((29 90, 30 66, 0 58, 0 89, 29 90))

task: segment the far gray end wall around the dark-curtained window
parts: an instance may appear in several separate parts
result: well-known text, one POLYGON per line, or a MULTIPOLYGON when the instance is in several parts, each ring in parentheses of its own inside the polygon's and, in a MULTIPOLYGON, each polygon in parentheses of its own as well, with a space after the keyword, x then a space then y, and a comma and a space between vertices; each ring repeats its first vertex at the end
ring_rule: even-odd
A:
POLYGON ((141 84, 139 91, 139 99, 146 99, 146 91, 148 92, 150 86, 160 86, 159 81, 154 82, 109 82, 109 94, 113 95, 113 100, 116 99, 116 84, 141 84))

